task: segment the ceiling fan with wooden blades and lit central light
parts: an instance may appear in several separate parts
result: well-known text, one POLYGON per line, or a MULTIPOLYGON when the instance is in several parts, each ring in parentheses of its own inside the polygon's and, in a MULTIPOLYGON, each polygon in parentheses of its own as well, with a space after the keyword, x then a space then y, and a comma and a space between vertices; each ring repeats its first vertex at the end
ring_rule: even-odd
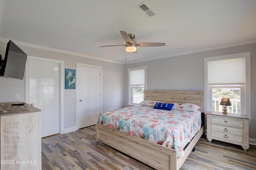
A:
POLYGON ((134 54, 138 53, 138 47, 155 47, 155 46, 165 46, 165 43, 136 43, 133 39, 135 38, 135 34, 130 33, 127 34, 125 31, 120 31, 122 37, 126 41, 126 45, 106 45, 100 47, 113 47, 113 46, 125 46, 126 51, 133 52, 134 54))

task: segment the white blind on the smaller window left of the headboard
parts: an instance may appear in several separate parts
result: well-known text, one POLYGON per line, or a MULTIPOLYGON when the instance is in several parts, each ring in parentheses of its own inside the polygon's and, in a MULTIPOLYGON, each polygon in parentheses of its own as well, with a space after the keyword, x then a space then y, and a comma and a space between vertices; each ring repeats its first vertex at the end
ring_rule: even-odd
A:
POLYGON ((130 85, 145 84, 145 69, 130 70, 130 85))

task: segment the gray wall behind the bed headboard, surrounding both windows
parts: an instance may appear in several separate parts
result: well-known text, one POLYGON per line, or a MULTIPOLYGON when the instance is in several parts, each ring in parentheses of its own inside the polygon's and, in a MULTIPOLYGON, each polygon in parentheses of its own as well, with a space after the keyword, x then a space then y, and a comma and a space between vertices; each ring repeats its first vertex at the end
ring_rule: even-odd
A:
POLYGON ((128 68, 147 66, 147 90, 204 91, 204 58, 251 52, 251 118, 249 137, 256 139, 256 43, 169 57, 124 66, 124 104, 128 104, 128 68))

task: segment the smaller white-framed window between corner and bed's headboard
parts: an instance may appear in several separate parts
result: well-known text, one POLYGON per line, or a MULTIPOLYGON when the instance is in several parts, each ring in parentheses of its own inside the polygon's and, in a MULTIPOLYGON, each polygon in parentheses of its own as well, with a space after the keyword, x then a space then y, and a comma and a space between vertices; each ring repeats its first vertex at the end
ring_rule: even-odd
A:
POLYGON ((129 102, 139 104, 144 100, 144 90, 146 90, 146 66, 129 68, 129 102))

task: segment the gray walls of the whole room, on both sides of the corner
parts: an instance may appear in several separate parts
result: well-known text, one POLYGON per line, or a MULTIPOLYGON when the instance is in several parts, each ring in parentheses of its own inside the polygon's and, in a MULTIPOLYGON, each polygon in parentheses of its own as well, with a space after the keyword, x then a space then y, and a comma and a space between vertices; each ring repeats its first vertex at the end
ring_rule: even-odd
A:
MULTIPOLYGON (((4 56, 6 44, 0 42, 4 56)), ((133 64, 115 64, 31 47, 19 46, 29 56, 64 61, 64 68, 76 69, 76 63, 102 66, 102 111, 128 104, 128 68, 147 66, 148 90, 204 91, 204 58, 251 52, 251 117, 250 138, 256 139, 256 43, 158 59, 133 64)), ((64 128, 76 126, 76 90, 64 90, 64 128)), ((25 101, 25 80, 0 77, 0 102, 25 101), (15 100, 14 94, 20 94, 15 100)))

